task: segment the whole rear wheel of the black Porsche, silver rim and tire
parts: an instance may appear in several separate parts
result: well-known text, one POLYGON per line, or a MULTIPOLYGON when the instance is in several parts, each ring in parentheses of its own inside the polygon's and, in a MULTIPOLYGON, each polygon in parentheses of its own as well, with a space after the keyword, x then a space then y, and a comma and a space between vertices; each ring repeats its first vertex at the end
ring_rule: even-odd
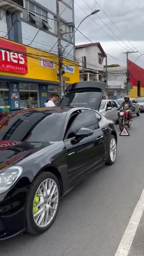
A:
POLYGON ((108 158, 106 160, 107 165, 112 165, 116 161, 117 154, 117 143, 116 137, 114 135, 110 135, 109 143, 108 143, 108 158))

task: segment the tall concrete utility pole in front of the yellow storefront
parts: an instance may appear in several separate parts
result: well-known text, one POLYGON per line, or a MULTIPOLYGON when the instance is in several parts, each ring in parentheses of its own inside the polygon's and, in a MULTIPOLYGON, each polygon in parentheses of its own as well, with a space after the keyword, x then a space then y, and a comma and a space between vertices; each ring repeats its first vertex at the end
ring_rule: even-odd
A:
POLYGON ((60 10, 59 1, 56 0, 56 17, 57 17, 57 28, 58 28, 58 77, 60 82, 60 97, 64 96, 64 84, 63 84, 63 63, 62 63, 62 51, 61 51, 61 33, 60 33, 60 10))

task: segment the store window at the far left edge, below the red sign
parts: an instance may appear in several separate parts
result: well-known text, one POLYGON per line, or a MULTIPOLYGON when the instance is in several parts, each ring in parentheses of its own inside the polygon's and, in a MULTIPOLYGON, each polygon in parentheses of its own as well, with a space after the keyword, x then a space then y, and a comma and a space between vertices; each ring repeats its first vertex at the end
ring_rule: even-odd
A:
POLYGON ((9 106, 8 83, 0 82, 0 106, 9 106))

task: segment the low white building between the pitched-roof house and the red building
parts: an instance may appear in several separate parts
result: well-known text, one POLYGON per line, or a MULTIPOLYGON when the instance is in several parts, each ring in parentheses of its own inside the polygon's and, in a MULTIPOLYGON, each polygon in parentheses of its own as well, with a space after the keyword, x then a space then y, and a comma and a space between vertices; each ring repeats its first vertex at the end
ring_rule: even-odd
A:
POLYGON ((123 98, 126 95, 126 66, 108 67, 108 98, 123 98))

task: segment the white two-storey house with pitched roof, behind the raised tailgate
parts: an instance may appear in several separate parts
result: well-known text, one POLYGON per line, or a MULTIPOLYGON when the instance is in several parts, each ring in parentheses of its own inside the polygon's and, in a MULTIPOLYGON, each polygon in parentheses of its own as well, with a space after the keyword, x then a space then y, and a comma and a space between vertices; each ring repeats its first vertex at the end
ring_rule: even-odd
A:
POLYGON ((100 43, 76 45, 76 59, 80 63, 80 81, 102 81, 106 54, 100 43))

